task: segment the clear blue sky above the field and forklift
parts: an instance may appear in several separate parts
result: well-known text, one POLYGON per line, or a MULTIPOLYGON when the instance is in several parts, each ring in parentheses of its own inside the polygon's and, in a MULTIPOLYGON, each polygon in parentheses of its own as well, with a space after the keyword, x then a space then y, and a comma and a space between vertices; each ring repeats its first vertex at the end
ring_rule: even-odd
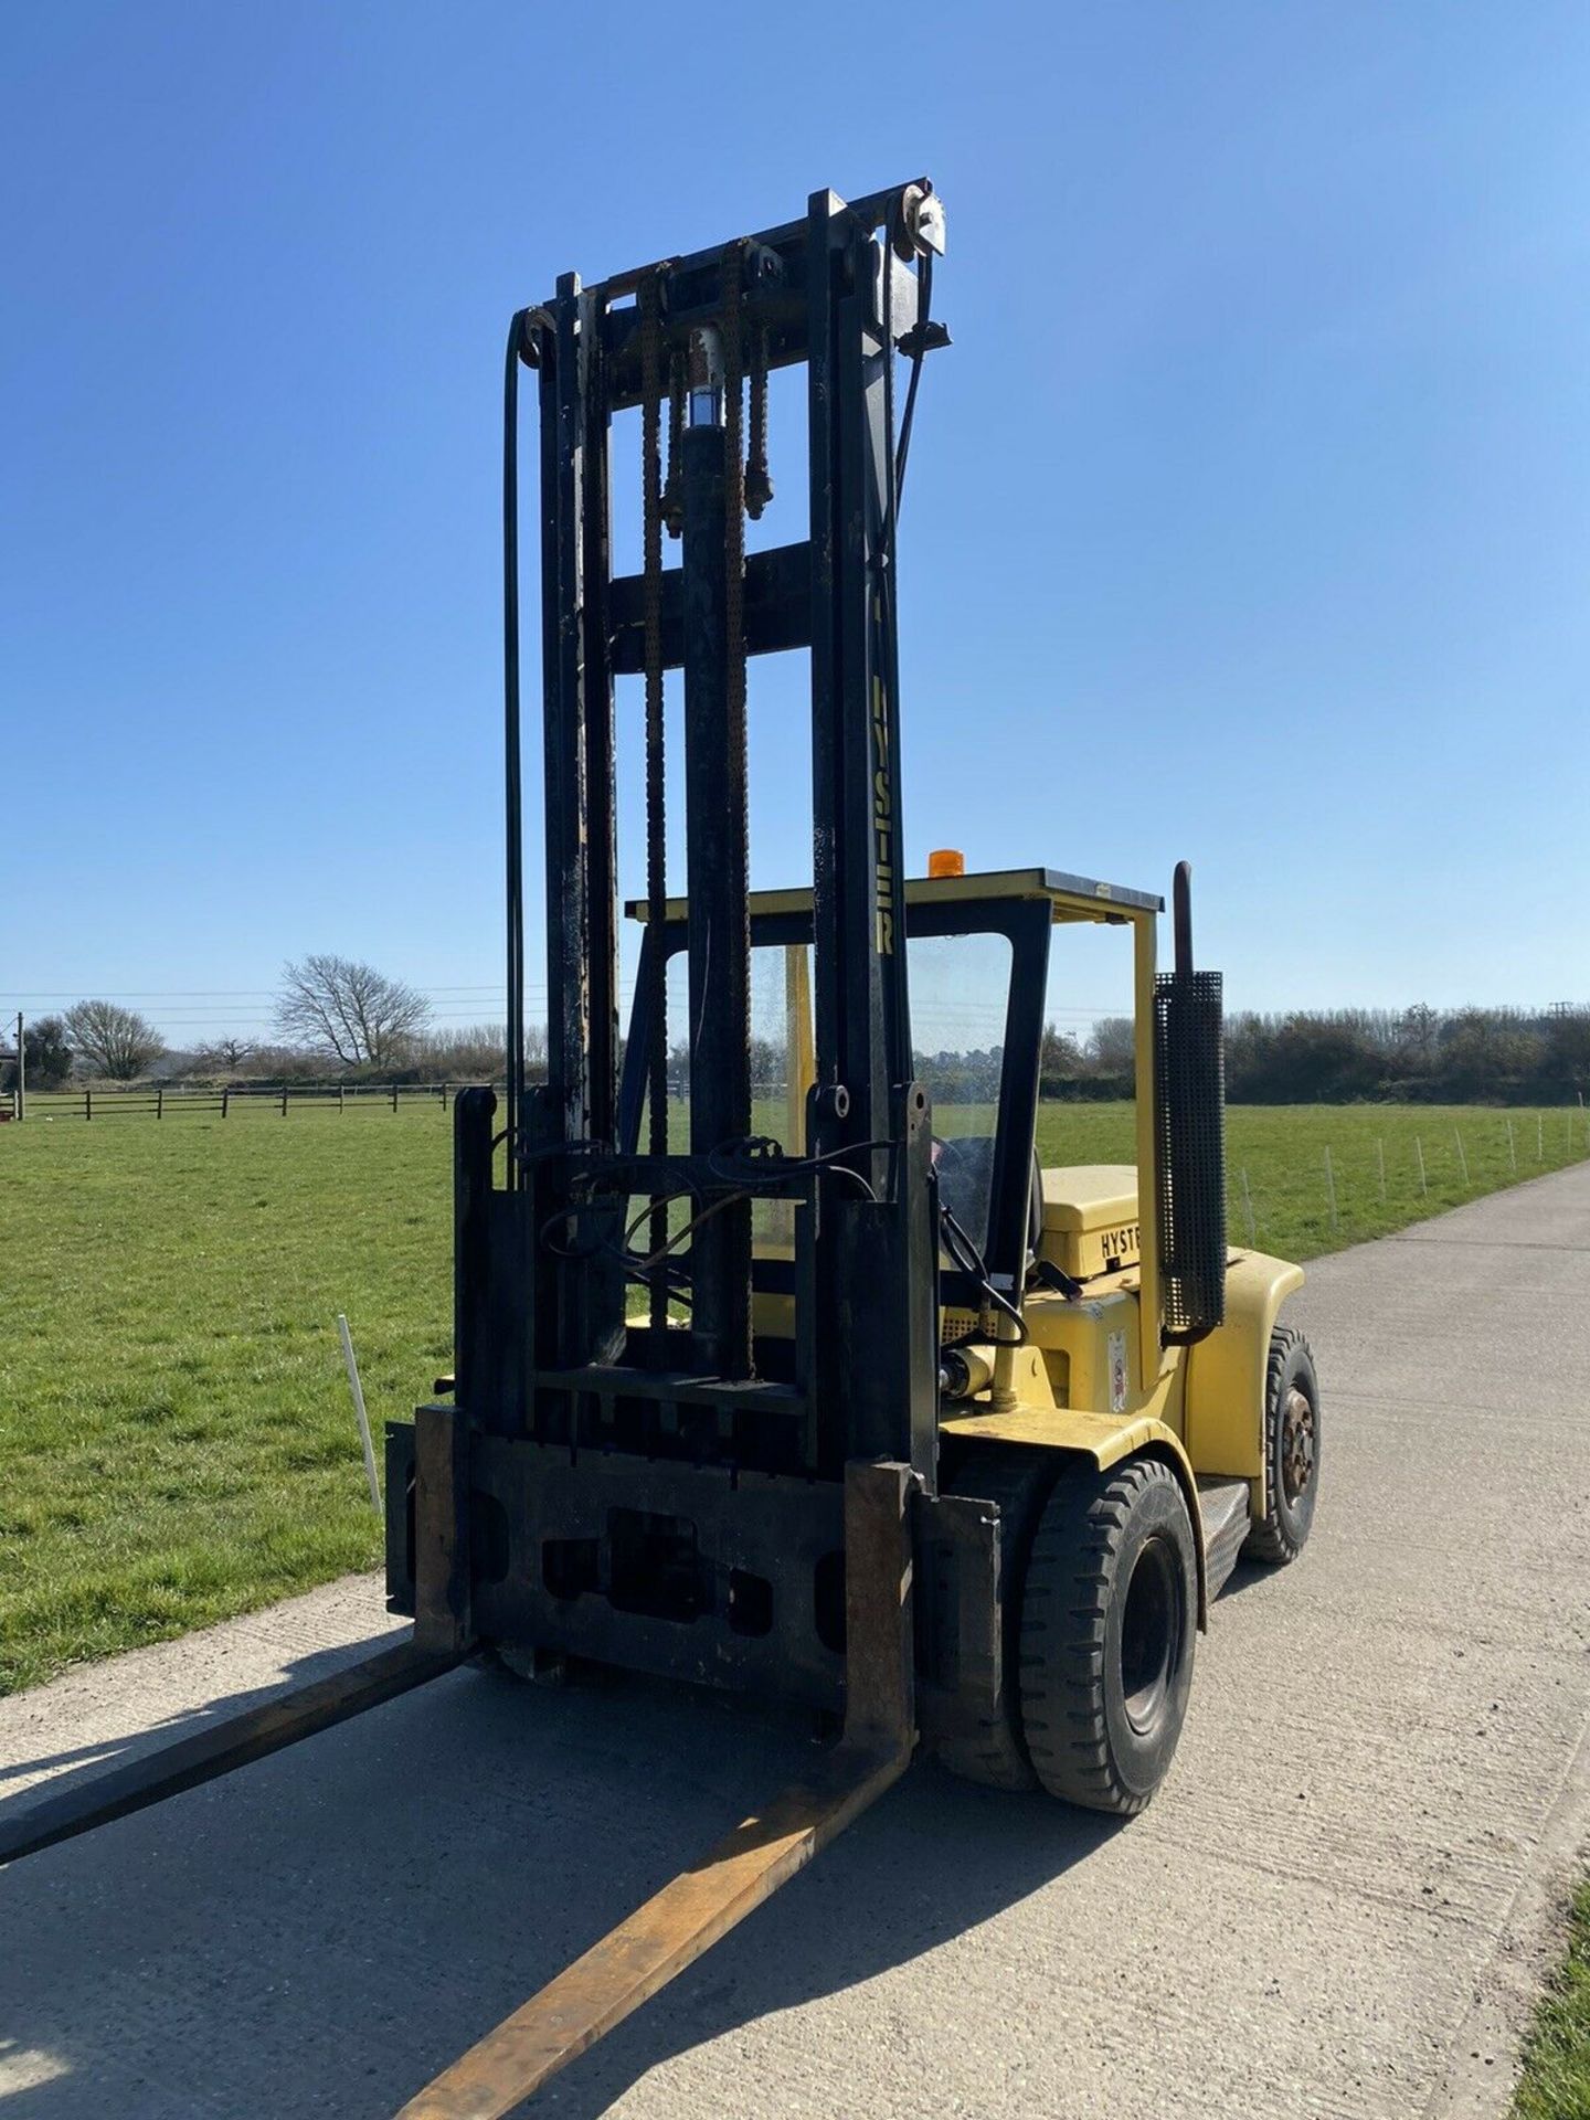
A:
POLYGON ((0 1009, 193 1043, 339 950, 500 1015, 507 316, 918 172, 916 865, 1185 854, 1234 1007, 1590 999, 1588 91, 1550 0, 11 8, 0 1009))

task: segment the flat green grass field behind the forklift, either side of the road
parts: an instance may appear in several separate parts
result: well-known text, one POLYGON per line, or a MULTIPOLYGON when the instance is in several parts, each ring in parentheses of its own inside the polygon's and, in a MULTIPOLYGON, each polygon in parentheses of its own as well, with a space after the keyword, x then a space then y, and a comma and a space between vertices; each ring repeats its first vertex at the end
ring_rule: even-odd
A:
MULTIPOLYGON (((377 1565, 335 1314, 379 1433, 452 1365, 449 1134, 437 1107, 0 1128, 0 1690, 377 1565)), ((1045 1107, 1039 1149, 1130 1160, 1130 1107, 1045 1107)), ((1257 1242, 1312 1257, 1584 1149, 1579 1111, 1512 1113, 1509 1155, 1499 1111, 1234 1109, 1232 1240, 1242 1170, 1257 1242)))

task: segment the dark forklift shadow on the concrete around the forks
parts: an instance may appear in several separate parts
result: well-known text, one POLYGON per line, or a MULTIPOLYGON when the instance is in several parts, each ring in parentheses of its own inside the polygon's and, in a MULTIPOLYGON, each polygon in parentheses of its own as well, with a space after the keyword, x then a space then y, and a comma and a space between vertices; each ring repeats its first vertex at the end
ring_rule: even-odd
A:
MULTIPOLYGON (((437 1679, 0 1872, 0 2112, 390 2116, 810 1764, 799 1721, 685 1688, 437 1679)), ((933 1953, 1113 1830, 918 1764, 528 2112, 594 2120, 674 2054, 933 1953)))

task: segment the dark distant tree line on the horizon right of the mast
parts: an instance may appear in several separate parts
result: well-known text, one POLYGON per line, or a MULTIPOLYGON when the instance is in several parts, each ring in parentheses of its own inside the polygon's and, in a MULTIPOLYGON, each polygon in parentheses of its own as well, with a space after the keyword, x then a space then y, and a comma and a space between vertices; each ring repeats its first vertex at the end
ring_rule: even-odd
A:
MULTIPOLYGON (((1132 1022, 1043 1032, 1043 1094, 1132 1094, 1132 1022)), ((1234 1105, 1571 1105, 1590 1096, 1590 1009, 1297 1009, 1225 1018, 1234 1105)))

